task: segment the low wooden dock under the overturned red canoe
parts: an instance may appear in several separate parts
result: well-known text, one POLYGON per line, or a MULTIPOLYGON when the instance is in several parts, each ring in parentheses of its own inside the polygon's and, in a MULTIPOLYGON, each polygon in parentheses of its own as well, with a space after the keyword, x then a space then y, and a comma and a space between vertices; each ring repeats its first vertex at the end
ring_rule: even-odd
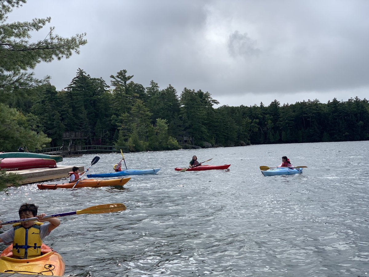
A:
MULTIPOLYGON (((56 168, 38 168, 28 170, 14 170, 8 172, 13 172, 25 177, 25 179, 19 181, 20 184, 30 184, 59 178, 67 178, 69 176, 68 172, 72 171, 73 166, 74 165, 58 165, 58 167, 56 168)), ((85 170, 84 166, 77 165, 77 167, 79 167, 80 172, 85 170)))

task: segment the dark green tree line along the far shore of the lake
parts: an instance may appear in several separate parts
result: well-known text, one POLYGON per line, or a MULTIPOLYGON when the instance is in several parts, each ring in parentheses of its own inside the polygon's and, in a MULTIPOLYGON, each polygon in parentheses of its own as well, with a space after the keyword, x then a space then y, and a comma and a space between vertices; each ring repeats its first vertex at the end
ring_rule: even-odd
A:
POLYGON ((25 127, 51 139, 50 147, 62 145, 63 132, 80 130, 87 134, 86 144, 130 151, 178 149, 177 140, 186 136, 200 147, 369 139, 366 99, 215 108, 219 102, 209 92, 184 88, 179 94, 154 81, 145 88, 133 77, 121 70, 110 76, 109 86, 78 69, 63 90, 46 83, 7 98, 17 114, 8 116, 24 117, 25 127))

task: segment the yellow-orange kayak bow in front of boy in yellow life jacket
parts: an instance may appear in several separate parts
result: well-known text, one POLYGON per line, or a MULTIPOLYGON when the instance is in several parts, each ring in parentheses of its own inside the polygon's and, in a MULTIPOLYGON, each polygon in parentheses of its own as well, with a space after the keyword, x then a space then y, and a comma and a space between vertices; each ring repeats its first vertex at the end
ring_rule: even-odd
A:
POLYGON ((32 275, 56 275, 62 276, 65 270, 65 263, 57 252, 45 244, 41 245, 42 255, 32 259, 13 259, 13 244, 10 244, 0 254, 0 274, 20 273, 32 275))

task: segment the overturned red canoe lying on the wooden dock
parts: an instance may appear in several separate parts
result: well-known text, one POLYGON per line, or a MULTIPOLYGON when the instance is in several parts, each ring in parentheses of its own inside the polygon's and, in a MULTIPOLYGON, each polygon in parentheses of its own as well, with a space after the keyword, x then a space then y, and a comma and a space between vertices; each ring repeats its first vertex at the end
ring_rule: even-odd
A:
POLYGON ((54 168, 56 162, 53 159, 39 158, 3 158, 0 159, 0 168, 9 170, 24 170, 33 168, 54 168))

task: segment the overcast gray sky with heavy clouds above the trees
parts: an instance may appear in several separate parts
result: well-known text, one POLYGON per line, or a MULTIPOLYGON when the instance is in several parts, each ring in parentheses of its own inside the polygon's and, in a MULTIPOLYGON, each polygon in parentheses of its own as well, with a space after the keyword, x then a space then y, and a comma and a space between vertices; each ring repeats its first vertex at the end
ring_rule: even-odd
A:
POLYGON ((31 0, 9 21, 51 16, 56 34, 87 32, 80 55, 36 67, 58 90, 78 68, 108 85, 127 69, 145 87, 250 106, 368 99, 368 10, 366 0, 31 0))

